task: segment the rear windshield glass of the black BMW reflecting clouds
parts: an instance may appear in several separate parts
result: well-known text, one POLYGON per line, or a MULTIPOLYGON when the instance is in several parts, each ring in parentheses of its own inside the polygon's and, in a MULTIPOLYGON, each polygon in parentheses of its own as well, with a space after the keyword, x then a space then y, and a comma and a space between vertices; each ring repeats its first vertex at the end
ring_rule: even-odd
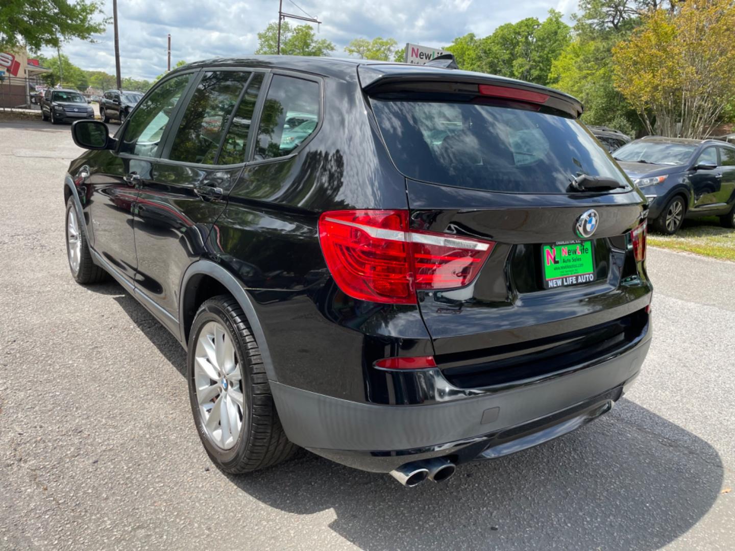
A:
POLYGON ((627 182, 573 118, 499 101, 370 101, 393 162, 412 179, 513 193, 569 192, 581 174, 627 182))

